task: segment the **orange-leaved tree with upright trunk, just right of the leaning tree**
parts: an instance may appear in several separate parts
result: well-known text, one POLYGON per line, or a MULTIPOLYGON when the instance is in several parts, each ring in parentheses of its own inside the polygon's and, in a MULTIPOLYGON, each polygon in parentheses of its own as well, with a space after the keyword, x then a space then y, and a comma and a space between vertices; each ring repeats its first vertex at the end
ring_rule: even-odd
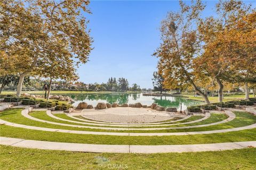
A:
MULTIPOLYGON (((245 48, 244 45, 255 44, 255 39, 253 38, 254 43, 249 42, 249 37, 243 38, 247 29, 245 27, 239 29, 239 21, 251 12, 250 5, 235 0, 220 1, 216 5, 216 11, 217 17, 211 16, 199 23, 198 30, 204 42, 204 52, 197 60, 197 68, 204 70, 207 75, 216 80, 219 85, 219 101, 222 102, 223 81, 228 81, 225 75, 230 77, 233 75, 230 70, 238 71, 238 63, 245 64, 251 60, 252 57, 247 54, 252 52, 252 48, 245 48), (239 36, 241 33, 243 36, 239 36)), ((243 67, 247 66, 249 65, 246 64, 243 67)))

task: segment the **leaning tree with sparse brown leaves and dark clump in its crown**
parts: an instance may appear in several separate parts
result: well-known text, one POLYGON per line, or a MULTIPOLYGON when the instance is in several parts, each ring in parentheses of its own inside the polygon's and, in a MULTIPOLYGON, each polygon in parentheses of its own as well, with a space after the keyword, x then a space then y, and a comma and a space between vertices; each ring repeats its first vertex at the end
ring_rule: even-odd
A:
POLYGON ((162 21, 162 43, 153 55, 159 58, 158 71, 163 75, 165 87, 175 89, 191 84, 205 103, 210 104, 207 95, 195 83, 198 81, 194 72, 197 65, 193 63, 200 55, 201 46, 194 24, 204 7, 201 1, 191 2, 191 5, 180 1, 179 11, 169 12, 162 21))

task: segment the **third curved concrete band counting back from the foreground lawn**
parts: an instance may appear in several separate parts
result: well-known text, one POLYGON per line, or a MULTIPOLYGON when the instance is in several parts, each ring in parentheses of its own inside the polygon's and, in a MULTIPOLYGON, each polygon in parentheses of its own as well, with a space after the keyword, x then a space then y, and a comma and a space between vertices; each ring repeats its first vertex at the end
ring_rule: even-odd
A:
MULTIPOLYGON (((49 112, 48 112, 49 113, 49 112)), ((236 117, 235 114, 231 111, 227 111, 226 114, 229 116, 226 120, 210 123, 210 124, 202 124, 202 125, 194 125, 194 126, 182 126, 182 127, 171 127, 171 128, 106 128, 106 127, 97 127, 97 126, 84 126, 84 125, 74 125, 74 124, 65 124, 65 123, 57 123, 57 122, 51 122, 51 121, 45 121, 41 120, 39 118, 35 118, 33 116, 30 116, 28 112, 24 112, 24 110, 21 112, 21 114, 30 120, 38 121, 38 122, 44 122, 49 124, 55 124, 55 125, 61 125, 61 126, 70 126, 74 128, 90 128, 90 129, 104 129, 104 130, 167 130, 167 129, 190 129, 190 128, 201 128, 206 126, 212 126, 217 125, 221 123, 226 123, 229 121, 234 120, 236 117)))

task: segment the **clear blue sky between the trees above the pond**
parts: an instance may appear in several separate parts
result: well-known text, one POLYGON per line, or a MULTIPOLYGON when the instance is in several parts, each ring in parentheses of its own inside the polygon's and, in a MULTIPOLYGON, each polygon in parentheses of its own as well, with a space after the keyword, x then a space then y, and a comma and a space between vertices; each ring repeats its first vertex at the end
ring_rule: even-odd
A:
MULTIPOLYGON (((203 16, 214 14, 217 1, 204 3, 203 16)), ((90 61, 77 70, 79 81, 102 83, 124 77, 130 86, 153 88, 157 58, 151 55, 160 43, 158 28, 168 11, 178 10, 178 1, 91 1, 89 7, 92 14, 85 16, 94 49, 90 61)))

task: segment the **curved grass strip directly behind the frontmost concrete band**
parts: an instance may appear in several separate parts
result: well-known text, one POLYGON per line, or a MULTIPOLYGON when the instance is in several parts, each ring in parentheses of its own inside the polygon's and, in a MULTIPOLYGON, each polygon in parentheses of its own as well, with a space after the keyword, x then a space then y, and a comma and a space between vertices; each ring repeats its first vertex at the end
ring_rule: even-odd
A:
MULTIPOLYGON (((19 112, 19 109, 11 109, 19 112)), ((6 121, 22 122, 22 116, 10 110, 5 111, 6 118, 1 113, 1 118, 5 117, 6 121), (6 113, 7 112, 7 113, 6 113)), ((26 120, 25 120, 26 121, 26 120)), ((35 121, 36 122, 36 121, 35 121)), ((47 127, 47 123, 30 122, 28 125, 47 127)), ((17 122, 18 123, 18 122, 17 122)), ((50 125, 47 128, 54 128, 50 125)), ((67 129, 65 126, 62 126, 67 129)), ((110 145, 182 145, 182 144, 199 144, 199 143, 218 143, 218 142, 234 142, 234 141, 252 141, 256 140, 256 128, 251 130, 243 130, 227 133, 213 134, 197 134, 197 135, 171 135, 171 136, 150 136, 150 137, 132 137, 132 136, 112 136, 112 135, 92 135, 92 134, 73 134, 61 132, 47 132, 30 130, 24 128, 15 128, 12 126, 1 125, 0 135, 2 137, 12 137, 30 140, 58 141, 58 142, 74 142, 74 143, 95 143, 110 145)), ((77 130, 77 128, 76 128, 77 130)))

